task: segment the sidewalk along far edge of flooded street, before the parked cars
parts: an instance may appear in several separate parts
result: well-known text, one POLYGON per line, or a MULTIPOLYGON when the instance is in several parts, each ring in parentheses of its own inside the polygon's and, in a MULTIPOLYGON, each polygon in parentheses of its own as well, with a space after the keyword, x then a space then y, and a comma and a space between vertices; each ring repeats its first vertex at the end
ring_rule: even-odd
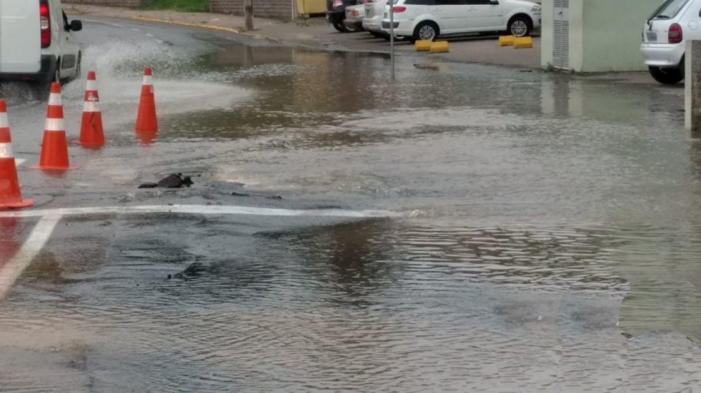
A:
MULTIPOLYGON (((132 10, 83 4, 66 4, 69 15, 91 15, 120 17, 163 22, 189 27, 200 27, 233 34, 247 34, 274 41, 283 45, 304 46, 322 50, 342 50, 356 52, 389 53, 390 45, 382 38, 374 38, 367 32, 339 33, 321 17, 299 19, 291 22, 255 18, 254 31, 245 31, 244 18, 236 15, 215 13, 181 13, 171 10, 132 10)), ((414 53, 414 45, 408 42, 396 43, 397 53, 414 53)), ((515 66, 528 69, 540 68, 540 38, 533 39, 533 48, 500 48, 494 37, 451 39, 450 52, 440 55, 424 54, 427 61, 463 62, 515 66)))

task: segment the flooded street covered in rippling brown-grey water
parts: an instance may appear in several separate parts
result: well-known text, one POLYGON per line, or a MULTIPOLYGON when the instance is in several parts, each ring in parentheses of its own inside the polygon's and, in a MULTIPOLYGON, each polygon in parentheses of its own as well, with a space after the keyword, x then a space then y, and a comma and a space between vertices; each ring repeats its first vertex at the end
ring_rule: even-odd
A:
POLYGON ((49 213, 0 213, 0 265, 56 222, 0 300, 0 392, 701 392, 683 89, 85 24, 81 169, 29 170, 46 106, 4 86, 49 213), (169 173, 195 184, 137 189, 169 173), (128 210, 169 204, 198 207, 128 210))

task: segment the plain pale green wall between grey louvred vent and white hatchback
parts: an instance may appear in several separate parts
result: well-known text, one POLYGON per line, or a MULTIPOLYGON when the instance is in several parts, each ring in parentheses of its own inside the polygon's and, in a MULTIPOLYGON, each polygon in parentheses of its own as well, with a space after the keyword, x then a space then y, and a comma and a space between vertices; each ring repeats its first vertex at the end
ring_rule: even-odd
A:
POLYGON ((584 0, 581 71, 644 71, 640 54, 645 21, 662 0, 584 0))

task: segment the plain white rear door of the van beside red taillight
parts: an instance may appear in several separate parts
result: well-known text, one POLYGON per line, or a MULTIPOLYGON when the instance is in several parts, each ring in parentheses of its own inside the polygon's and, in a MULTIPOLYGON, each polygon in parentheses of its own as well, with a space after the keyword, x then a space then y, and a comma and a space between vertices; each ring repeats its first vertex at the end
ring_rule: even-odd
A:
POLYGON ((0 0, 0 73, 41 69, 39 0, 0 0))

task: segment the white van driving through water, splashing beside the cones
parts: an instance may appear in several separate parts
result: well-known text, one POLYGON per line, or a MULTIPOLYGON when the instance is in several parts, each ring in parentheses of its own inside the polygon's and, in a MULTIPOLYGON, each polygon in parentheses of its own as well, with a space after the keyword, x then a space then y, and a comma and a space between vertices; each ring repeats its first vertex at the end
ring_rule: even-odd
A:
POLYGON ((0 0, 0 81, 50 83, 81 75, 81 48, 60 0, 0 0))

